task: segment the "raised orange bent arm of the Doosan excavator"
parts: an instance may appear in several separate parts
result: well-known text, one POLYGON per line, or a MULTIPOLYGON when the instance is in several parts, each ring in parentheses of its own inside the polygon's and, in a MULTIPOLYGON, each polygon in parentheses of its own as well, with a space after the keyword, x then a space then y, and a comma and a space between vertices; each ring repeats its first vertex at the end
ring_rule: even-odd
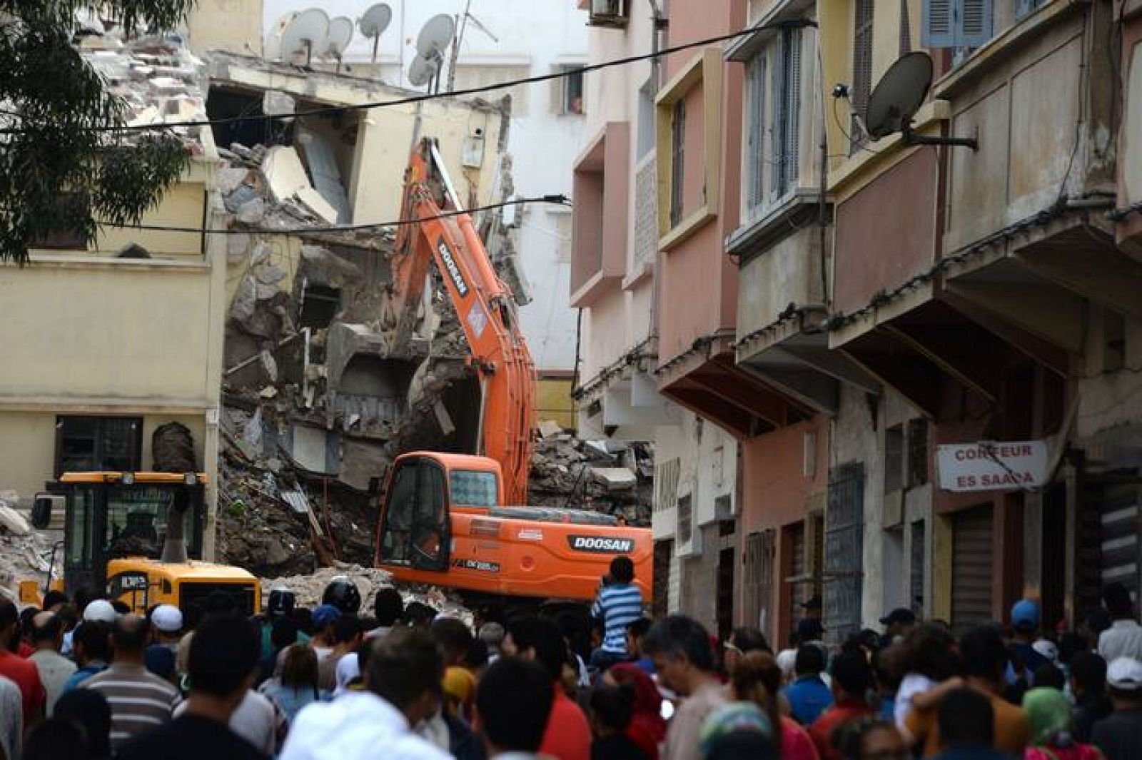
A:
POLYGON ((512 290, 488 258, 464 212, 435 140, 425 138, 405 170, 402 219, 393 258, 394 341, 407 340, 434 262, 456 308, 481 388, 477 452, 499 462, 505 504, 528 503, 536 370, 518 325, 512 290), (442 216, 452 215, 452 216, 442 216))

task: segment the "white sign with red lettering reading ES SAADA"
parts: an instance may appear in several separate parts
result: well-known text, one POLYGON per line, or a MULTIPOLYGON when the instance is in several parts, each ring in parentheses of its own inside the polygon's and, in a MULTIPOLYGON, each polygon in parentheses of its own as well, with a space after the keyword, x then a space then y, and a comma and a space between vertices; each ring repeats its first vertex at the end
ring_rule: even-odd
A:
POLYGON ((936 447, 940 487, 944 491, 1018 491, 1047 480, 1047 444, 981 442, 936 447))

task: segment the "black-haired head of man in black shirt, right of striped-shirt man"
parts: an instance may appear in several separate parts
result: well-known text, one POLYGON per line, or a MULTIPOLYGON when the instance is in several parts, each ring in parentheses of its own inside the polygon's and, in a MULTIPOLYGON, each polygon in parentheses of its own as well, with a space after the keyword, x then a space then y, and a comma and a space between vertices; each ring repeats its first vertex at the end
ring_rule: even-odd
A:
POLYGON ((219 698, 232 697, 247 688, 260 655, 262 637, 254 623, 228 615, 208 616, 191 639, 191 688, 219 698))

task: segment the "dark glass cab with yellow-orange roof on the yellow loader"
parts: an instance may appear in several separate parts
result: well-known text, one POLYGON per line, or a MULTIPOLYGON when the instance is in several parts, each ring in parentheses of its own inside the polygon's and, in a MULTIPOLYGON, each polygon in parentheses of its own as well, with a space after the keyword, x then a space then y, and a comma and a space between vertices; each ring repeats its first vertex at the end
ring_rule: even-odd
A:
POLYGON ((66 498, 64 590, 107 588, 115 598, 146 588, 144 573, 108 577, 108 563, 158 560, 168 516, 183 508, 190 559, 202 558, 206 476, 188 472, 65 472, 48 491, 66 498))

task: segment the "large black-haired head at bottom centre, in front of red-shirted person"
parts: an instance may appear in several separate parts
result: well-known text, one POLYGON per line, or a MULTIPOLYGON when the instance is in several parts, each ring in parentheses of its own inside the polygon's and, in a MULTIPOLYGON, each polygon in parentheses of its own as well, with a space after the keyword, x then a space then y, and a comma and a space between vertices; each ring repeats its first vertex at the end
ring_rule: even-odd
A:
POLYGON ((537 752, 555 694, 540 664, 500 657, 480 679, 476 711, 488 741, 509 752, 537 752))

